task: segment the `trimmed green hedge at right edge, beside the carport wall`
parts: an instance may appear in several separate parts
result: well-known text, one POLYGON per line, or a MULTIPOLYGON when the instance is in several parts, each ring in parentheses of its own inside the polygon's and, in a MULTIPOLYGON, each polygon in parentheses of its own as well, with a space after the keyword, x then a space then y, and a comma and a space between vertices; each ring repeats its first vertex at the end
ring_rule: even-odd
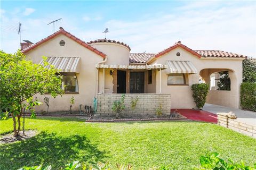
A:
POLYGON ((240 100, 243 109, 256 111, 256 83, 241 84, 240 100))

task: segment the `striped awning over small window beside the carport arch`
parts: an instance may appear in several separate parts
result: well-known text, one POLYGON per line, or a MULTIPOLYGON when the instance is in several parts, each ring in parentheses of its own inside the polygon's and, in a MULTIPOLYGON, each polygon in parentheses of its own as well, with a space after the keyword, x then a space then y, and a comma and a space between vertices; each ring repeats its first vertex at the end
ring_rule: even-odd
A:
POLYGON ((190 61, 166 61, 166 73, 197 73, 196 67, 190 61))

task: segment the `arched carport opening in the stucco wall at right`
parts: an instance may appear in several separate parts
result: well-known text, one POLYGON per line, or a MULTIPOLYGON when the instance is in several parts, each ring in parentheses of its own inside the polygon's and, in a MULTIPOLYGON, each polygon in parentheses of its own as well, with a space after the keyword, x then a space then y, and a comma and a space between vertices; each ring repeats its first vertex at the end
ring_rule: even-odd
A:
POLYGON ((199 75, 210 86, 206 103, 239 108, 239 83, 234 70, 209 68, 201 70, 199 75), (228 74, 230 85, 227 84, 226 87, 222 88, 218 86, 218 79, 223 76, 220 75, 220 72, 228 74), (230 88, 228 89, 229 86, 230 88))

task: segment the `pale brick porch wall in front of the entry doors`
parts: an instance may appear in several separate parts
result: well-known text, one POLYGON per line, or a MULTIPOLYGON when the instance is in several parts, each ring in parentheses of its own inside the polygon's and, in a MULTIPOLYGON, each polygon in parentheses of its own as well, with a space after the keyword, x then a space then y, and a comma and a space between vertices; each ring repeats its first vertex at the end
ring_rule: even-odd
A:
MULTIPOLYGON (((115 100, 119 100, 122 94, 98 94, 97 114, 114 114, 111 107, 115 100)), ((123 114, 148 114, 155 115, 156 108, 162 104, 163 114, 171 112, 171 95, 168 94, 125 94, 125 109, 123 114), (131 109, 131 100, 139 96, 134 111, 131 109)))

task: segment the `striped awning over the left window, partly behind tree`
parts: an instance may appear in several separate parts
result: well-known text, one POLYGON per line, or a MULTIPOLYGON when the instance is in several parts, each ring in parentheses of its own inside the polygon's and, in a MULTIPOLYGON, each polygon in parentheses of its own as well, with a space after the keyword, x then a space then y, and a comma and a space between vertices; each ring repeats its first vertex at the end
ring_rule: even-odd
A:
MULTIPOLYGON (((47 57, 46 62, 49 65, 46 68, 53 65, 59 72, 79 73, 79 60, 80 57, 47 57)), ((43 65, 44 61, 42 60, 39 64, 43 65)))

